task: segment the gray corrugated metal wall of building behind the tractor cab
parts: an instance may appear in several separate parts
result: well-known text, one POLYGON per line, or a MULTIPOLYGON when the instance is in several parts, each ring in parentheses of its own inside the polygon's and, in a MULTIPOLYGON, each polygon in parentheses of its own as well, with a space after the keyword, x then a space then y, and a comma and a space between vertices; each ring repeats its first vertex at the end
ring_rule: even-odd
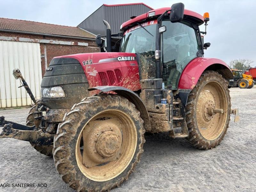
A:
POLYGON ((105 6, 93 12, 77 27, 83 28, 95 35, 106 35, 106 27, 102 20, 108 21, 111 27, 111 33, 119 33, 120 26, 132 16, 139 16, 151 9, 143 4, 131 4, 121 6, 105 6))

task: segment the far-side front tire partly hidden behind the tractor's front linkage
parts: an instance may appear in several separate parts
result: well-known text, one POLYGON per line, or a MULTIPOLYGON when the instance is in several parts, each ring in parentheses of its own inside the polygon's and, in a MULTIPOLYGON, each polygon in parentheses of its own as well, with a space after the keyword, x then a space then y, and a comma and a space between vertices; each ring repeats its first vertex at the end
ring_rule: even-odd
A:
MULTIPOLYGON (((36 105, 34 105, 30 110, 29 110, 29 113, 28 113, 28 116, 27 116, 27 120, 26 120, 26 125, 27 126, 34 126, 34 121, 40 121, 40 120, 36 120, 33 116, 33 112, 36 111, 36 105)), ((46 155, 46 156, 52 156, 52 149, 53 149, 53 146, 36 146, 35 144, 33 143, 30 143, 30 145, 32 147, 34 147, 34 149, 36 149, 38 152, 46 155)))

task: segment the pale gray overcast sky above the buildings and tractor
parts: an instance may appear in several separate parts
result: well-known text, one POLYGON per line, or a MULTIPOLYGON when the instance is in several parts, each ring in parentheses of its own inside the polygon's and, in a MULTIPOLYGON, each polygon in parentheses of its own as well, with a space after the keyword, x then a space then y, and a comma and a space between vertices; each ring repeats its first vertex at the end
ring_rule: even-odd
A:
MULTIPOLYGON (((246 58, 253 60, 252 65, 256 66, 255 0, 0 0, 0 17, 77 26, 102 4, 140 2, 155 9, 182 2, 185 9, 202 15, 209 12, 204 42, 210 42, 211 47, 205 51, 205 57, 219 58, 227 63, 246 58)), ((200 29, 203 31, 204 26, 200 29)))

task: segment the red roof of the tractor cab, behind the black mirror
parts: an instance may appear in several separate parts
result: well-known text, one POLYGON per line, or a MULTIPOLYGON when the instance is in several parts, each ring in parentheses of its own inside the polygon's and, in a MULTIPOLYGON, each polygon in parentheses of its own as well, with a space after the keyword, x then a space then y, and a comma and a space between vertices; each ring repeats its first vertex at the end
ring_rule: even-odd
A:
MULTIPOLYGON (((155 15, 159 16, 159 15, 162 15, 166 10, 170 10, 170 9, 171 9, 170 7, 164 7, 164 8, 160 8, 160 9, 154 9, 154 10, 151 10, 151 11, 149 11, 147 13, 139 15, 139 16, 131 19, 131 20, 128 20, 128 21, 124 22, 121 25, 120 30, 121 29, 125 30, 126 28, 132 26, 136 22, 140 22, 140 21, 148 19, 148 13, 150 13, 150 12, 155 12, 155 15)), ((170 13, 170 11, 168 13, 170 13)), ((204 17, 202 15, 200 15, 200 14, 198 14, 196 12, 184 9, 184 19, 186 17, 189 18, 190 20, 192 19, 192 21, 195 22, 198 25, 201 25, 201 24, 204 23, 204 17)), ((152 17, 152 18, 154 18, 154 17, 152 17)))

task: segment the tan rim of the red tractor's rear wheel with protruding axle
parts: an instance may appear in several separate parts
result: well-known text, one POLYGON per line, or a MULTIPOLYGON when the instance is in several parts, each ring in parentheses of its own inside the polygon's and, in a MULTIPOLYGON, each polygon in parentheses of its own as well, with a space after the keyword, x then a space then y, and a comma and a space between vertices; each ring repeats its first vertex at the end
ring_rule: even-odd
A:
POLYGON ((201 135, 206 140, 218 138, 226 125, 227 116, 228 101, 223 87, 218 82, 208 82, 196 104, 196 122, 201 135))

